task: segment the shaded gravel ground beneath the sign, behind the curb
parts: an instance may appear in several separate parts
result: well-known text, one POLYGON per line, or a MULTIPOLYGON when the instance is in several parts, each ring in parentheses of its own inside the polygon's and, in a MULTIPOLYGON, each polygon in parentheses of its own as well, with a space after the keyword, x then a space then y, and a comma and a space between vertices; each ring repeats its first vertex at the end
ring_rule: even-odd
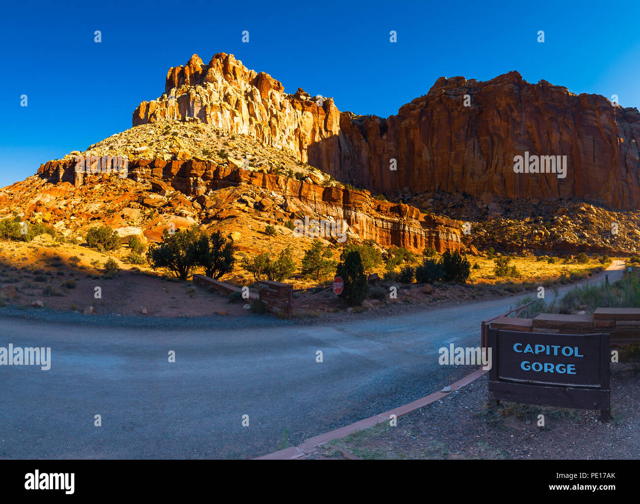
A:
MULTIPOLYGON (((620 366, 619 366, 620 367, 620 366)), ((612 420, 596 411, 487 402, 488 376, 429 406, 323 446, 308 459, 637 459, 640 374, 613 370, 612 420), (545 416, 544 427, 538 415, 545 416)))

